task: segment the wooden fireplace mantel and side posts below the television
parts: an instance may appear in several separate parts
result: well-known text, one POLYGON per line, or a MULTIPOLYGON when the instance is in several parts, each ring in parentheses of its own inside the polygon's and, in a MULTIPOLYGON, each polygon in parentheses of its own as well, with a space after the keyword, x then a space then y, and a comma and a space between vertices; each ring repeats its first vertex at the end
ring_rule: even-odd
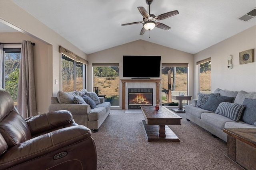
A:
POLYGON ((122 83, 122 109, 125 109, 125 93, 126 93, 126 83, 136 83, 136 82, 155 82, 156 83, 156 104, 159 104, 159 86, 161 79, 120 79, 122 83))

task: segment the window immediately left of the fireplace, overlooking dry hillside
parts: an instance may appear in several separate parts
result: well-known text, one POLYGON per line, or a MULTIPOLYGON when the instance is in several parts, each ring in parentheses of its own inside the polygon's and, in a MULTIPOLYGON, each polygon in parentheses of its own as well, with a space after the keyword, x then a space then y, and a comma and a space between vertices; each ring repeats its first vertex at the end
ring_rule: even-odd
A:
POLYGON ((92 64, 93 86, 99 88, 100 95, 112 106, 119 105, 119 64, 92 64))

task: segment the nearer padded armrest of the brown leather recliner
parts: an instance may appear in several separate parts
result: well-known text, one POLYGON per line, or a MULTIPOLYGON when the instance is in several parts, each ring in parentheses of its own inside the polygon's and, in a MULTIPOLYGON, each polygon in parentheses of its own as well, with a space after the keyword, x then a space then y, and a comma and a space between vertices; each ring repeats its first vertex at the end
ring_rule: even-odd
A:
POLYGON ((0 167, 6 169, 45 156, 50 152, 60 152, 58 150, 90 138, 91 134, 90 129, 78 125, 40 135, 8 149, 1 156, 0 167))

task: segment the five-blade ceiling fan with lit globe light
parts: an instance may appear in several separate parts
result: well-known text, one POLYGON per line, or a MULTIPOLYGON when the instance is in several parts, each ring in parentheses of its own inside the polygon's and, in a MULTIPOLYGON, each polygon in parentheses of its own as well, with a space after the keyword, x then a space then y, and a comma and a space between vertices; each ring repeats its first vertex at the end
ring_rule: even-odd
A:
POLYGON ((131 23, 124 23, 122 24, 122 26, 124 25, 132 25, 132 24, 136 24, 136 23, 142 23, 143 24, 143 28, 140 31, 140 35, 144 34, 144 32, 146 30, 152 30, 154 27, 158 27, 161 29, 165 29, 165 30, 169 30, 171 29, 171 27, 169 27, 168 25, 165 25, 163 23, 157 22, 159 20, 164 20, 165 18, 174 16, 176 14, 179 14, 178 10, 174 10, 171 12, 166 12, 164 14, 161 14, 159 16, 155 16, 154 14, 150 14, 150 5, 152 4, 153 0, 146 0, 146 3, 148 4, 148 12, 145 10, 144 7, 142 6, 138 6, 138 10, 140 11, 140 14, 142 14, 143 16, 143 21, 139 21, 139 22, 131 22, 131 23))

